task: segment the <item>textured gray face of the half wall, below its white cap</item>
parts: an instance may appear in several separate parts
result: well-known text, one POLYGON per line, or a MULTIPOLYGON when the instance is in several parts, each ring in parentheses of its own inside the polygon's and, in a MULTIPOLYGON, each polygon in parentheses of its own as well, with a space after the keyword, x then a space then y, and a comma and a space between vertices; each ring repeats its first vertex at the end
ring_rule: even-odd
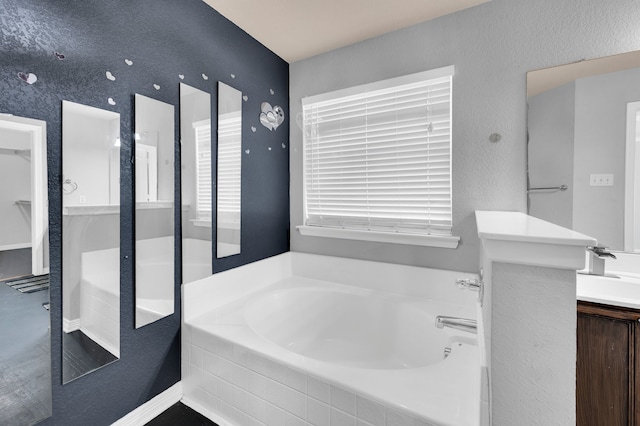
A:
POLYGON ((575 425, 576 273, 492 264, 492 424, 575 425))

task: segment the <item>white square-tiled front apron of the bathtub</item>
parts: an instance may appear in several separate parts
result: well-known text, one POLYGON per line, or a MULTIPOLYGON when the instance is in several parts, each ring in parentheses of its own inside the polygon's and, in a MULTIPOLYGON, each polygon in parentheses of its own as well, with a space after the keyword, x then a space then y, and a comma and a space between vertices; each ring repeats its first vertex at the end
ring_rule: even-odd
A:
POLYGON ((183 402, 221 426, 435 426, 225 339, 208 336, 207 341, 212 352, 199 348, 198 343, 184 342, 191 346, 192 359, 183 360, 183 402), (204 357, 194 357, 195 348, 204 357), (247 356, 234 355, 238 351, 247 356), (287 376, 298 377, 298 386, 286 384, 287 376))

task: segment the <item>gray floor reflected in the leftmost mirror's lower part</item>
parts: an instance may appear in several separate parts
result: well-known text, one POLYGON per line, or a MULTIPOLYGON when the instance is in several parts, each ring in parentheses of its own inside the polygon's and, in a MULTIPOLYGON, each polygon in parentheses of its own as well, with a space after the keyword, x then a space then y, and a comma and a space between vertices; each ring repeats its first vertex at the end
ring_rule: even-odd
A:
POLYGON ((49 291, 0 283, 0 424, 33 425, 51 415, 49 291))

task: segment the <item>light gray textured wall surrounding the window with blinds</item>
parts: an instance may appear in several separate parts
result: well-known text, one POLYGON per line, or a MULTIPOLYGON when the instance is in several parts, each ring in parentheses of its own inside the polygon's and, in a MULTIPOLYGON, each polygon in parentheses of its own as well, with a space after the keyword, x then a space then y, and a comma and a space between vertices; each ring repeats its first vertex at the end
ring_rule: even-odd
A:
MULTIPOLYGON (((354 23, 355 24, 355 23, 354 23)), ((475 210, 526 210, 526 72, 640 49, 637 0, 492 0, 290 67, 291 248, 477 272, 475 210), (301 236, 300 99, 446 65, 453 89, 456 250, 301 236), (502 141, 488 141, 497 132, 502 141)))

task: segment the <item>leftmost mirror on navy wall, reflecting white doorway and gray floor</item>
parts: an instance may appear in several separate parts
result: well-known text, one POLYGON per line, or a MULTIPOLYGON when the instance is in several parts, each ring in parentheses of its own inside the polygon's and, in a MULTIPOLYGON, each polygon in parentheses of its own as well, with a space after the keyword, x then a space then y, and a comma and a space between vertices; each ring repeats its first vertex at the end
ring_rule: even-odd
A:
POLYGON ((0 116, 0 424, 51 415, 46 134, 0 116))

